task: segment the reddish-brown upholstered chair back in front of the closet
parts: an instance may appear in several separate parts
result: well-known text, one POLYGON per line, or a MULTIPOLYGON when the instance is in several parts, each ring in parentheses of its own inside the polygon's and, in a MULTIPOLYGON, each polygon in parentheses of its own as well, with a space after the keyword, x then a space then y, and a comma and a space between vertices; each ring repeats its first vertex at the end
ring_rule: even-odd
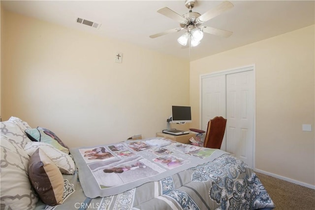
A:
POLYGON ((204 140, 204 147, 220 149, 225 133, 226 119, 223 117, 214 117, 209 120, 207 133, 204 140))

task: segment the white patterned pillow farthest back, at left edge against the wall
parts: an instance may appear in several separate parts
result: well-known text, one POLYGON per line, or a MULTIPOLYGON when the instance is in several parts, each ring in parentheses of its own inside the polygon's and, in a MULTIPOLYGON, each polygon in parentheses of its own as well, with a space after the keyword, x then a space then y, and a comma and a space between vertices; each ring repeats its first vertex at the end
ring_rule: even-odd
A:
POLYGON ((25 130, 30 129, 29 124, 17 117, 10 117, 9 120, 3 121, 1 124, 1 134, 12 139, 22 149, 31 140, 26 136, 25 130))

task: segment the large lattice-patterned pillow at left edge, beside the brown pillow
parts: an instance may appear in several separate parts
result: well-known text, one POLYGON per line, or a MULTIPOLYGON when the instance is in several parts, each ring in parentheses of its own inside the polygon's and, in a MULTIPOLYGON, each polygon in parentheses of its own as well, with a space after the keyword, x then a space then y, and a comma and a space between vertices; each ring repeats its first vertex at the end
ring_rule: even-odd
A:
POLYGON ((1 209, 32 210, 38 201, 28 176, 28 154, 14 140, 0 135, 1 209))

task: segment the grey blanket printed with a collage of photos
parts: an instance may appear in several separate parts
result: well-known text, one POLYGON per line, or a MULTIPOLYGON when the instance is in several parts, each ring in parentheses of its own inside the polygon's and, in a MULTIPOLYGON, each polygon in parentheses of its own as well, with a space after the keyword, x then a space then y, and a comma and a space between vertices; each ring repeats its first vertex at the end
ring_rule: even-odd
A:
POLYGON ((225 153, 163 138, 153 140, 168 141, 168 145, 157 147, 150 145, 149 140, 130 140, 70 149, 85 195, 95 198, 119 194, 212 161, 225 153))

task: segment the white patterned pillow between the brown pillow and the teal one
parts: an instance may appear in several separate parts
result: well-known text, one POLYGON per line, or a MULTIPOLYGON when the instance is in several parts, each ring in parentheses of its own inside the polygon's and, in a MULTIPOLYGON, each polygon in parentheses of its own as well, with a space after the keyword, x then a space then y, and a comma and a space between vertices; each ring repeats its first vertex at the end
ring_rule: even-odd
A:
POLYGON ((31 141, 26 144, 24 150, 29 156, 32 156, 38 148, 46 153, 46 155, 56 164, 62 174, 73 175, 75 165, 72 158, 70 155, 60 151, 54 146, 45 142, 31 141))

